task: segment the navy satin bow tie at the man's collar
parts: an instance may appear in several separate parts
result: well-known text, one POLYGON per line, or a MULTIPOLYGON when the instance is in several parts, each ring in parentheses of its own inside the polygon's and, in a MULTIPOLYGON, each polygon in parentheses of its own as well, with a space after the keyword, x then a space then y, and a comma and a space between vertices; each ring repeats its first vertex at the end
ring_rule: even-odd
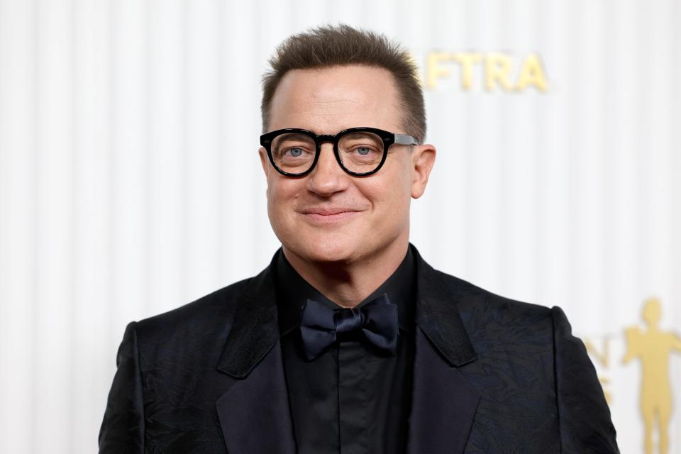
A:
POLYGON ((338 341, 365 338, 375 347, 393 353, 397 348, 397 306, 387 294, 360 309, 333 310, 308 299, 303 308, 300 333, 307 360, 317 358, 338 341))

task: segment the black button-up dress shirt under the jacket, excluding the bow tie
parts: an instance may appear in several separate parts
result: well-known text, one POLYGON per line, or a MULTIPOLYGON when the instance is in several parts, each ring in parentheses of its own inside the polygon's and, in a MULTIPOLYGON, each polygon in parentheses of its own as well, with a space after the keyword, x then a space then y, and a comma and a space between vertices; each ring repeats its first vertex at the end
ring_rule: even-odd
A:
POLYGON ((392 276, 356 306, 384 293, 397 304, 394 355, 366 341, 337 341, 308 362, 299 331, 302 306, 314 299, 331 309, 342 307, 306 282, 279 251, 279 330, 299 454, 405 452, 414 363, 415 270, 410 246, 392 276))

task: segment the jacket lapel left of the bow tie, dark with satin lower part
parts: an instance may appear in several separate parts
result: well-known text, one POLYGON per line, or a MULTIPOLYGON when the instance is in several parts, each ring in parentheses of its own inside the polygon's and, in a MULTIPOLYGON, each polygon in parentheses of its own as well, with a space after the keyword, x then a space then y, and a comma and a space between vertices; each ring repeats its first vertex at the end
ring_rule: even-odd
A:
POLYGON ((235 379, 216 402, 230 454, 296 452, 279 343, 274 264, 275 259, 245 284, 217 366, 235 379))

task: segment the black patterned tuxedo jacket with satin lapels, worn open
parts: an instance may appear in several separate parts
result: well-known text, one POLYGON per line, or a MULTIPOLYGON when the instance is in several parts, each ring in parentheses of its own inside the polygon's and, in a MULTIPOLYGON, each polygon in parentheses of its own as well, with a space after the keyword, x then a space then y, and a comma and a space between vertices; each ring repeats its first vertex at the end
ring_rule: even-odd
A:
MULTIPOLYGON (((414 253, 409 453, 619 452, 594 367, 563 311, 499 297, 414 253)), ((276 255, 253 278, 128 325, 100 453, 296 452, 275 263, 276 255)))

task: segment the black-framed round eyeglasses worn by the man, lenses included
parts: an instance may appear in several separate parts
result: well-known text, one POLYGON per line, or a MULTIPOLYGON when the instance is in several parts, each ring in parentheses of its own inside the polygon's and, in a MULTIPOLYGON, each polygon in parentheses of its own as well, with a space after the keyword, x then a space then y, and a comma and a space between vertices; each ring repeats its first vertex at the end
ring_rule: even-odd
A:
POLYGON ((316 135, 299 128, 278 129, 260 135, 260 145, 267 150, 272 165, 289 177, 309 174, 319 160, 324 142, 333 143, 338 165, 355 177, 378 172, 390 145, 418 145, 411 135, 365 127, 345 129, 336 135, 316 135))

